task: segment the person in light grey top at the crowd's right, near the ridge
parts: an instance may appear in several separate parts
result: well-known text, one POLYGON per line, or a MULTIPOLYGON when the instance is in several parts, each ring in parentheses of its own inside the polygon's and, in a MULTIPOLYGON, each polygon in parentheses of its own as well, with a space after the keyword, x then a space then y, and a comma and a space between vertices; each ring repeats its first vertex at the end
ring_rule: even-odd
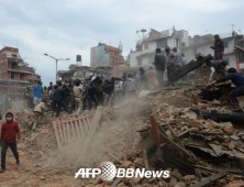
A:
POLYGON ((131 99, 135 97, 136 94, 136 81, 133 79, 133 76, 131 74, 127 75, 127 79, 124 82, 123 89, 125 90, 125 97, 126 99, 131 99))

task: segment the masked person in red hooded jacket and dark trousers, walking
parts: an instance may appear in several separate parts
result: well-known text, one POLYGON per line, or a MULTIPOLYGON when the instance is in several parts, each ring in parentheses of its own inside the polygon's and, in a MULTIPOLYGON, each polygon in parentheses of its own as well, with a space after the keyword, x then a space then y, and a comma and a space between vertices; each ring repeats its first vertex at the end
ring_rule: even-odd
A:
POLYGON ((1 167, 0 173, 5 172, 5 154, 7 150, 10 146, 15 160, 16 164, 20 164, 19 154, 16 152, 16 135, 20 141, 20 128, 16 121, 13 121, 13 113, 11 111, 5 114, 7 122, 2 124, 1 128, 1 136, 0 136, 0 145, 2 145, 1 152, 1 167))

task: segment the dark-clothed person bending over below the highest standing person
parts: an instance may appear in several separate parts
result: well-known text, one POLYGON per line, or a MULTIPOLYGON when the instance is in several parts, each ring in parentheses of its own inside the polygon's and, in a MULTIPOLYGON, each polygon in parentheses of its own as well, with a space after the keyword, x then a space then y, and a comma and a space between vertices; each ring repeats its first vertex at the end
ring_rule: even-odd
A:
POLYGON ((217 79, 219 79, 221 75, 224 77, 226 65, 226 61, 214 61, 213 63, 211 63, 210 67, 212 73, 209 76, 209 82, 213 80, 214 76, 217 77, 217 79))

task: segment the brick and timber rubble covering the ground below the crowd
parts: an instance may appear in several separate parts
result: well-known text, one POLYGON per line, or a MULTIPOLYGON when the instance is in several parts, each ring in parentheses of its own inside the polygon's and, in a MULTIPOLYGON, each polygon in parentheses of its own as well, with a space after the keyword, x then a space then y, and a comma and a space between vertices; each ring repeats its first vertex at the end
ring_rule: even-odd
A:
MULTIPOLYGON (((89 113, 91 125, 87 138, 58 150, 54 118, 41 120, 35 135, 31 135, 32 111, 13 108, 22 135, 18 143, 21 165, 15 166, 9 150, 7 172, 0 177, 1 187, 243 185, 244 122, 240 120, 237 124, 231 118, 221 121, 223 117, 218 113, 204 114, 203 111, 211 110, 230 112, 232 107, 228 98, 231 84, 204 90, 209 73, 208 68, 201 69, 193 84, 191 80, 166 87, 113 109, 103 109, 86 154, 84 146, 96 111, 89 113), (79 168, 97 167, 103 161, 112 162, 118 168, 167 169, 170 176, 114 178, 109 183, 99 178, 74 178, 79 168)), ((59 120, 67 118, 76 119, 62 113, 59 120)))

